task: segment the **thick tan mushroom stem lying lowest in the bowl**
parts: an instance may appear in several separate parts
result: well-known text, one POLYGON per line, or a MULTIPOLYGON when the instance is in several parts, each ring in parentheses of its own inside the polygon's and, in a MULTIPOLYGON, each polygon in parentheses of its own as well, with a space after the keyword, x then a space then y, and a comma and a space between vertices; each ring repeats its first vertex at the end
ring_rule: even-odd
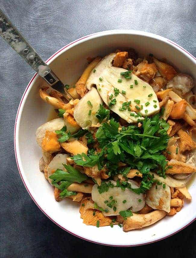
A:
POLYGON ((130 231, 137 228, 150 226, 166 216, 164 210, 154 210, 147 214, 133 214, 133 216, 123 221, 123 230, 130 231))

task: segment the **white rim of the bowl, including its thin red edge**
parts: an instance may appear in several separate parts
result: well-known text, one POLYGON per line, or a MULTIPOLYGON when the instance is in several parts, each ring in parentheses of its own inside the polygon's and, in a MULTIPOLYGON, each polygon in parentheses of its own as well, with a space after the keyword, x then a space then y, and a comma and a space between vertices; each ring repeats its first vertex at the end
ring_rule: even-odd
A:
MULTIPOLYGON (((139 30, 106 30, 106 31, 102 31, 102 32, 97 32, 97 33, 93 33, 93 34, 89 34, 87 36, 84 36, 84 37, 81 37, 79 39, 76 39, 74 40, 73 42, 65 45, 64 47, 62 47, 61 49, 59 49, 58 51, 56 51, 50 58, 47 59, 46 63, 47 64, 50 64, 55 58, 57 58, 60 54, 62 54, 63 52, 65 52, 66 50, 68 50, 69 48, 72 48, 74 45, 77 45, 78 43, 82 43, 82 42, 85 42, 89 39, 94 39, 94 38, 97 38, 97 37, 100 37, 100 36, 109 36, 109 35, 116 35, 116 34, 129 34, 129 35, 140 35, 140 36, 147 36, 147 37, 150 37, 150 38, 154 38, 154 39, 158 39, 168 45, 171 45, 172 47, 176 48, 178 51, 182 52, 184 55, 187 56, 187 58, 191 59, 191 61, 194 61, 194 63, 196 64, 196 58, 190 54, 188 51, 186 51, 184 48, 182 48, 181 46, 179 46, 178 44, 176 44, 175 42, 165 38, 165 37, 162 37, 162 36, 159 36, 159 35, 156 35, 156 34, 153 34, 153 33, 148 33, 148 32, 144 32, 144 31, 139 31, 139 30)), ((182 229, 184 229, 185 227, 187 227, 188 225, 190 225, 192 222, 194 222, 194 220, 196 218, 194 218, 193 220, 189 221, 188 224, 186 225, 183 225, 183 227, 179 228, 177 231, 175 232, 172 232, 171 234, 166 234, 165 236, 163 236, 162 238, 157 238, 153 241, 143 241, 141 242, 140 244, 125 244, 125 245, 117 245, 117 244, 107 244, 107 243, 102 243, 101 241, 100 242, 97 242, 97 241, 93 241, 92 239, 89 238, 84 238, 82 237, 81 235, 77 235, 75 234, 74 232, 71 232, 69 231, 68 229, 64 228, 62 225, 59 225, 54 219, 52 219, 49 214, 47 214, 43 209, 42 207, 40 207, 40 205, 38 204, 38 202, 34 199, 33 195, 31 194, 30 192, 30 189, 28 188, 27 186, 27 183, 25 181, 25 178, 24 178, 24 171, 23 171, 23 168, 22 168, 22 164, 21 164, 21 159, 20 159, 20 152, 19 152, 19 148, 18 148, 18 133, 19 133, 19 126, 20 126, 20 120, 21 120, 21 114, 22 114, 22 110, 23 110, 23 107, 24 107, 24 104, 25 104, 25 101, 27 99, 27 96, 28 96, 28 92, 29 90, 32 88, 33 84, 36 82, 36 79, 38 78, 38 74, 35 73, 32 77, 32 79, 30 80, 30 82, 28 83, 25 91, 24 91, 24 94, 22 95, 22 98, 21 98, 21 101, 20 101, 20 104, 18 106, 18 109, 17 109, 17 114, 16 114, 16 119, 15 119, 15 125, 14 125, 14 153, 15 153, 15 159, 16 159, 16 164, 17 164, 17 168, 18 168, 18 171, 19 171, 19 174, 21 176, 21 179, 22 179, 22 182, 25 186, 25 188, 27 189, 27 192, 29 193, 30 197, 32 198, 32 200, 34 201, 34 203, 37 205, 37 207, 52 221, 54 222, 57 226, 59 226, 60 228, 62 228, 63 230, 67 231, 68 233, 70 233, 71 235, 74 235, 78 238, 81 238, 83 240, 86 240, 86 241, 89 241, 89 242, 92 242, 92 243, 95 243, 95 244, 103 244, 103 245, 106 245, 106 246, 114 246, 114 247, 134 247, 134 246, 140 246, 140 245, 144 245, 144 244, 151 244, 151 243, 154 243, 154 242, 157 242, 157 241, 160 241, 160 240, 163 240, 165 238, 168 238, 174 234, 176 234, 177 232, 181 231, 182 229)))

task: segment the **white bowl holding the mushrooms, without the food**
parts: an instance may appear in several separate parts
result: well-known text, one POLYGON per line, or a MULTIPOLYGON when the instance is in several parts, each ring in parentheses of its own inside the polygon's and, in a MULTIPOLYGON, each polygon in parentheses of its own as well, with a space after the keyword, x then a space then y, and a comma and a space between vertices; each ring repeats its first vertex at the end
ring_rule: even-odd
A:
MULTIPOLYGON (((104 56, 116 48, 135 48, 140 54, 153 53, 156 58, 166 58, 180 72, 196 76, 196 59, 185 49, 169 39, 135 30, 112 30, 85 36, 57 51, 47 63, 64 83, 72 84, 87 65, 87 57, 104 56)), ((36 129, 46 122, 50 110, 49 105, 38 95, 38 90, 43 84, 43 80, 35 74, 25 89, 16 116, 14 147, 22 181, 33 201, 49 219, 79 238, 120 247, 161 240, 194 221, 195 180, 189 187, 193 200, 191 203, 185 203, 179 213, 175 216, 166 216, 150 227, 126 233, 118 225, 113 228, 87 226, 80 218, 78 203, 70 199, 56 202, 54 188, 39 170, 39 159, 42 154, 35 140, 36 129)))

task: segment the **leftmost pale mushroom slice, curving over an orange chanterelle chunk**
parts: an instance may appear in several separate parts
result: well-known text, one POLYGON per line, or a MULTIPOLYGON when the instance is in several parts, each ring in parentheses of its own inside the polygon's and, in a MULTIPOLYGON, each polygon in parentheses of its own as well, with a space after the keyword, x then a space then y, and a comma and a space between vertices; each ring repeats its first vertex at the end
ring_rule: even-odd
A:
MULTIPOLYGON (((43 137, 45 136, 46 130, 50 132, 55 132, 55 130, 60 130, 63 126, 67 127, 67 130, 71 133, 76 132, 76 128, 71 126, 68 122, 65 122, 63 118, 55 118, 53 120, 50 120, 36 130, 36 141, 37 144, 41 147, 43 137)), ((77 129, 78 130, 78 129, 77 129)))

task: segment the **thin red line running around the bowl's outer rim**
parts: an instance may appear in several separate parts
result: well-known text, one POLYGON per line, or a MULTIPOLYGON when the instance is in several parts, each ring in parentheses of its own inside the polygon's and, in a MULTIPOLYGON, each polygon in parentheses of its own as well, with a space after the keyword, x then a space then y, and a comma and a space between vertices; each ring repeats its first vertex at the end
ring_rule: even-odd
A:
MULTIPOLYGON (((117 31, 117 30, 106 31, 106 32, 115 32, 115 31, 117 31)), ((119 32, 121 32, 121 33, 123 33, 123 31, 125 32, 126 30, 119 30, 119 32)), ((128 31, 128 30, 127 30, 127 31, 128 31)), ((133 32, 137 32, 137 31, 133 31, 133 32)), ((102 34, 102 33, 104 33, 104 32, 93 33, 93 34, 84 36, 84 37, 82 37, 82 38, 80 38, 80 39, 77 39, 77 40, 75 40, 75 41, 69 43, 68 45, 65 45, 63 48, 61 48, 60 50, 58 50, 57 52, 55 52, 55 54, 53 54, 53 55, 46 61, 46 63, 48 63, 53 57, 55 57, 58 53, 60 53, 61 51, 63 51, 63 50, 64 50, 65 48, 67 48, 68 46, 70 46, 70 45, 72 45, 72 44, 74 44, 74 43, 76 43, 76 42, 79 42, 79 41, 81 41, 81 40, 83 40, 83 39, 89 38, 89 37, 94 36, 94 35, 97 35, 97 34, 102 34)), ((141 31, 140 31, 140 33, 141 33, 141 31)), ((144 32, 144 33, 146 34, 146 32, 144 32)), ((153 35, 154 37, 155 37, 155 36, 156 36, 156 37, 158 36, 158 35, 152 34, 152 33, 147 33, 147 34, 148 34, 148 35, 151 35, 151 36, 153 35)), ((191 55, 188 51, 186 51, 184 48, 182 48, 181 46, 179 46, 179 45, 176 44, 175 42, 173 42, 173 41, 171 41, 171 40, 169 40, 169 39, 163 38, 163 37, 161 37, 161 36, 159 36, 159 37, 162 38, 162 39, 164 39, 165 41, 169 42, 170 44, 175 45, 176 48, 180 48, 181 51, 184 51, 187 55, 191 56, 191 58, 193 58, 193 59, 196 60, 196 58, 195 58, 193 55, 191 55)), ((112 245, 112 244, 99 243, 99 242, 96 242, 96 241, 92 241, 92 240, 90 240, 90 239, 81 237, 81 236, 79 236, 79 235, 77 235, 77 234, 75 234, 75 233, 73 233, 73 232, 67 230, 66 228, 62 227, 62 226, 59 225, 57 222, 55 222, 55 220, 53 220, 53 219, 40 207, 40 205, 36 202, 36 200, 33 198, 32 194, 30 193, 30 190, 28 189, 28 187, 27 187, 27 185, 26 185, 26 183, 25 183, 25 181, 24 181, 24 178, 23 178, 23 176, 22 176, 22 173, 21 173, 21 170, 20 170, 20 167, 19 167, 19 163, 18 163, 17 151, 16 151, 16 126, 17 126, 18 114, 19 114, 19 111, 20 111, 20 108, 21 108, 21 104, 22 104, 22 102, 23 102, 23 99, 24 99, 24 97, 25 97, 25 95, 26 95, 26 92, 27 92, 28 88, 30 87, 31 83, 33 82, 34 78, 36 77, 36 75, 37 75, 37 73, 34 74, 34 76, 32 77, 32 79, 30 80, 29 84, 27 85, 27 88, 25 89, 24 94, 23 94, 23 96, 22 96, 22 98, 21 98, 20 104, 19 104, 19 106, 18 106, 18 110, 17 110, 17 114, 16 114, 16 120, 15 120, 15 125, 14 125, 14 152, 15 152, 15 158, 16 158, 17 168, 18 168, 19 174, 20 174, 20 176, 21 176, 22 182, 24 183, 24 186, 25 186, 25 188, 27 189, 27 192, 29 193, 30 197, 32 198, 32 200, 34 201, 34 203, 37 205, 37 207, 38 207, 52 222, 54 222, 58 227, 62 228, 62 229, 65 230, 66 232, 68 232, 68 233, 70 233, 71 235, 74 235, 74 236, 76 236, 76 237, 78 237, 78 238, 81 238, 81 239, 83 239, 83 240, 89 241, 89 242, 91 242, 91 243, 102 244, 102 245, 106 245, 106 246, 114 246, 114 247, 134 247, 134 246, 140 246, 140 245, 145 245, 145 244, 152 244, 152 243, 154 243, 154 242, 157 242, 157 241, 166 239, 166 238, 168 238, 168 237, 170 237, 170 236, 172 236, 172 235, 178 233, 179 231, 181 231, 182 229, 184 229, 184 228, 186 228, 188 225, 190 225, 192 222, 194 222, 194 220, 195 220, 196 218, 193 219, 191 222, 189 222, 189 223, 188 223, 187 225, 185 225, 184 227, 180 228, 179 230, 173 232, 173 233, 170 234, 170 235, 167 235, 167 236, 165 236, 165 237, 163 237, 163 238, 160 238, 160 239, 156 239, 156 240, 154 240, 154 241, 149 241, 149 242, 142 243, 142 244, 133 244, 133 245, 115 245, 115 244, 112 245)))

